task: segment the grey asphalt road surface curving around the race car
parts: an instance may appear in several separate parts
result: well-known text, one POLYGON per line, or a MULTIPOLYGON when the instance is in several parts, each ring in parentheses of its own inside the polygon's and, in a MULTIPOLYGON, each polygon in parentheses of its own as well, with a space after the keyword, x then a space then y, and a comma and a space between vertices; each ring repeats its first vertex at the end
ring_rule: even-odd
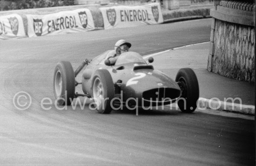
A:
POLYGON ((53 71, 60 60, 75 68, 119 39, 132 42, 131 50, 143 55, 209 41, 210 24, 204 19, 0 40, 0 165, 254 165, 254 120, 199 111, 103 115, 88 105, 67 110, 40 106, 45 97, 54 102, 53 71), (13 106, 20 91, 32 97, 24 111, 13 106))

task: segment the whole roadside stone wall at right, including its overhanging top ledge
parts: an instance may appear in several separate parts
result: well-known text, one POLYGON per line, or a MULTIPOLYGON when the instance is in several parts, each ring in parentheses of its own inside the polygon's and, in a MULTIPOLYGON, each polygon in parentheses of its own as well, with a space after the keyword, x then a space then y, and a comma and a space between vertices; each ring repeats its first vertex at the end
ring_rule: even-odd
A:
POLYGON ((255 4, 231 5, 228 0, 221 1, 210 13, 213 20, 208 70, 229 78, 254 82, 255 27, 252 25, 255 4), (222 4, 225 4, 225 8, 222 4), (237 10, 242 10, 242 13, 237 10))

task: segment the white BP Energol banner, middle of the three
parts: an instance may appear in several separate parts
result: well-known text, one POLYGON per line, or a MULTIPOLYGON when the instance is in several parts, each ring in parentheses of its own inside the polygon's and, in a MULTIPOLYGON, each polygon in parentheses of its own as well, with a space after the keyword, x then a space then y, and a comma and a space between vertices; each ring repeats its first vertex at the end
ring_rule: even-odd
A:
POLYGON ((28 37, 94 30, 94 21, 89 9, 26 16, 28 37))

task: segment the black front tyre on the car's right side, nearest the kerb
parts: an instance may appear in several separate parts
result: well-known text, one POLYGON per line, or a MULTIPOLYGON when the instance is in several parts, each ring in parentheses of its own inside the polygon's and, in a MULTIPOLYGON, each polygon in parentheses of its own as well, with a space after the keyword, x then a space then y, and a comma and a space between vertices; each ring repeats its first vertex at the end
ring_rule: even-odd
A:
POLYGON ((177 100, 179 108, 184 113, 194 112, 199 98, 199 85, 195 72, 191 68, 182 68, 178 71, 175 81, 182 89, 182 96, 177 100), (186 103, 182 99, 185 99, 186 103))

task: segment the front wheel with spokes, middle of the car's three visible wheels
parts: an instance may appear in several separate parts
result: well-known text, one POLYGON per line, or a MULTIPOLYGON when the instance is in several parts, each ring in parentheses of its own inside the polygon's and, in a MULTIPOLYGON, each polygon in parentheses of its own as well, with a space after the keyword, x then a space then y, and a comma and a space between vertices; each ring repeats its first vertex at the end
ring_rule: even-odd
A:
POLYGON ((92 97, 95 99, 94 106, 98 113, 110 113, 112 111, 111 100, 114 98, 115 88, 112 76, 106 69, 97 70, 92 81, 92 97), (98 88, 97 88, 98 87, 98 88), (98 94, 98 96, 96 96, 98 94), (101 95, 101 97, 99 97, 101 95), (102 99, 105 103, 103 105, 102 99), (99 102, 96 102, 99 99, 99 102), (101 103, 100 103, 101 102, 101 103))

